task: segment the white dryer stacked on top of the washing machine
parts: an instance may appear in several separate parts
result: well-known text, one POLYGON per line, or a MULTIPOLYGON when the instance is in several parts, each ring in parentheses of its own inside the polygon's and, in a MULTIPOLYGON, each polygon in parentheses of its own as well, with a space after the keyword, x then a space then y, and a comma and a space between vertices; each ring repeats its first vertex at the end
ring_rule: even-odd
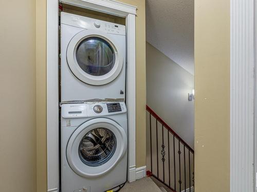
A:
POLYGON ((125 26, 61 12, 61 101, 125 98, 125 26))

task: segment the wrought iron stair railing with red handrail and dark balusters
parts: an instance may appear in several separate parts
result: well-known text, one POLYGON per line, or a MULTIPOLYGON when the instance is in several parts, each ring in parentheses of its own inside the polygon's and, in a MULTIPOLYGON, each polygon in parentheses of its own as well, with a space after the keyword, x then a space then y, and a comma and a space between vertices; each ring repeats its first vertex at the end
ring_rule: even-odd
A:
POLYGON ((146 167, 148 175, 176 192, 194 191, 194 150, 148 105, 146 167))

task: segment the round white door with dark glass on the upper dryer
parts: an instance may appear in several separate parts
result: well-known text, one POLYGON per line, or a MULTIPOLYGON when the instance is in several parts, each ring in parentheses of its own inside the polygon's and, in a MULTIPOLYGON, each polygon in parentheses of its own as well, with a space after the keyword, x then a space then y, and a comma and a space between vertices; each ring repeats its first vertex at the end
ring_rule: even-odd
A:
POLYGON ((70 40, 67 62, 78 79, 87 84, 101 86, 113 81, 120 74, 123 57, 109 34, 84 30, 70 40))

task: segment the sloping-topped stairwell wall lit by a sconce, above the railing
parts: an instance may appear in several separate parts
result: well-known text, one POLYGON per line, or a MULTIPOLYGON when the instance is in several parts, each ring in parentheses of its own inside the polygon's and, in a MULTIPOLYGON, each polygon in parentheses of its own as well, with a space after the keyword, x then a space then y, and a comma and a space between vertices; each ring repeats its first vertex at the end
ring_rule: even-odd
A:
POLYGON ((194 76, 146 43, 146 103, 194 148, 194 76))

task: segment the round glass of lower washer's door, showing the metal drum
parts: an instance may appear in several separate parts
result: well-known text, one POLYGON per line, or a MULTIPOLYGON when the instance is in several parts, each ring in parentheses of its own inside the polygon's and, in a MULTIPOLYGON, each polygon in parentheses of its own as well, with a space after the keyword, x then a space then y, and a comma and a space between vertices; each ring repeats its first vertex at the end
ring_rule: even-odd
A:
POLYGON ((116 150, 116 137, 106 128, 89 131, 79 144, 79 157, 89 166, 100 166, 106 163, 116 150))

